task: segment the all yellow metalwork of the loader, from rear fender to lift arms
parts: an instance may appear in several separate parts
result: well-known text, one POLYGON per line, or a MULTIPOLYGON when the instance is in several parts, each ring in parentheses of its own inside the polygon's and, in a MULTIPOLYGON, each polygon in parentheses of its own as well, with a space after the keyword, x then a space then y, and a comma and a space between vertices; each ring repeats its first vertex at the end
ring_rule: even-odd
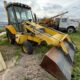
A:
POLYGON ((23 22, 24 33, 17 33, 15 28, 12 25, 6 26, 12 34, 16 35, 16 42, 22 44, 26 40, 30 40, 40 44, 42 41, 45 41, 48 45, 53 45, 61 47, 62 50, 67 54, 68 50, 64 44, 64 40, 71 42, 67 34, 61 33, 54 29, 40 26, 34 22, 23 22), (32 35, 34 34, 34 35, 32 35))

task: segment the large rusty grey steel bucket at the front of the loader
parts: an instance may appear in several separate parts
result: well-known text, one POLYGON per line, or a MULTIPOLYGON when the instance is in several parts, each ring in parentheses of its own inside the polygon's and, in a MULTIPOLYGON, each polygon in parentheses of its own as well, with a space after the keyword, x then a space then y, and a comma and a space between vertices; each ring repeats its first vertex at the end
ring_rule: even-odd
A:
POLYGON ((71 80, 73 58, 75 50, 69 47, 69 56, 64 55, 64 52, 57 47, 50 49, 44 56, 41 67, 44 68, 51 75, 56 77, 58 80, 71 80), (70 58, 72 62, 70 61, 70 58))

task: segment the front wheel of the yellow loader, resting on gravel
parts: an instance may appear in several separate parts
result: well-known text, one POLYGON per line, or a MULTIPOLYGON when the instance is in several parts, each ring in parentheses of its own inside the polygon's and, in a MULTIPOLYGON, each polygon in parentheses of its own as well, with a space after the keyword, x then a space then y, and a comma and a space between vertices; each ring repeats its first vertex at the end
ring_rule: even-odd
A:
POLYGON ((32 54, 33 53, 32 43, 29 41, 25 41, 22 45, 22 51, 29 55, 32 54))

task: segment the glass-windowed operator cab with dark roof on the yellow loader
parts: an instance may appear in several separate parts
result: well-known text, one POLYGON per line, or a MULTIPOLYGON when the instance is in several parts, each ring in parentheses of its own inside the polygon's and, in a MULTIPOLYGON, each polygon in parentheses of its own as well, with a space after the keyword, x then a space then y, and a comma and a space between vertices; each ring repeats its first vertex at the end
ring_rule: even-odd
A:
POLYGON ((31 7, 22 3, 9 3, 6 6, 8 14, 8 23, 14 25, 16 31, 22 32, 23 21, 35 21, 35 16, 31 11, 31 7))

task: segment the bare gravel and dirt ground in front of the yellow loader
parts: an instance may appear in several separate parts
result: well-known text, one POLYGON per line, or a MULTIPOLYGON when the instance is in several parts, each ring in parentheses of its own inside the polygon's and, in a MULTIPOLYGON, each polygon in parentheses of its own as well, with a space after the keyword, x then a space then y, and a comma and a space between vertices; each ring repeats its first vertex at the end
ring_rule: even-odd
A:
POLYGON ((6 58, 3 54, 7 69, 0 73, 0 80, 56 80, 39 66, 41 60, 37 54, 28 55, 20 52, 20 59, 14 63, 14 51, 16 47, 3 46, 0 49, 2 53, 5 52, 6 56, 11 56, 6 58))

